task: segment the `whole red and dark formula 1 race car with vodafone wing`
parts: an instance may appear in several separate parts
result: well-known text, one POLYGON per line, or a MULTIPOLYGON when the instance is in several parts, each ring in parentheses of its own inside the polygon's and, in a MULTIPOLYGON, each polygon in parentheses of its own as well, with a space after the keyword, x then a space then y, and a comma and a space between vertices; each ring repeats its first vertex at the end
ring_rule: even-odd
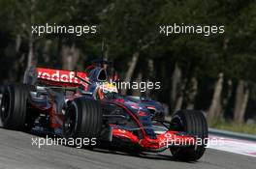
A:
POLYGON ((4 86, 3 127, 96 138, 96 146, 109 144, 136 153, 170 150, 184 161, 204 155, 208 124, 201 111, 179 110, 165 121, 161 103, 119 95, 108 64, 96 61, 84 71, 26 70, 23 84, 4 86))

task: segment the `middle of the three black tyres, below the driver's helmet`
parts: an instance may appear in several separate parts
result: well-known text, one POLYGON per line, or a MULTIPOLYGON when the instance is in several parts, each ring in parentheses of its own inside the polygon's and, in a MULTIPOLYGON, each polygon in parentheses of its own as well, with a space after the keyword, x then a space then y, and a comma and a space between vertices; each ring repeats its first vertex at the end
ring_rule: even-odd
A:
POLYGON ((65 138, 97 139, 102 128, 102 108, 98 100, 78 98, 67 107, 63 135, 65 138))

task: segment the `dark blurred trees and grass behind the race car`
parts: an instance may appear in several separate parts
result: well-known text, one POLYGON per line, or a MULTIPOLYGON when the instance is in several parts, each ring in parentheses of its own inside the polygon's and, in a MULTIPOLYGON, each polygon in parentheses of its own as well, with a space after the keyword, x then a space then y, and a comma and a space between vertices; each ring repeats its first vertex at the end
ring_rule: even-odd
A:
POLYGON ((84 70, 113 62, 120 79, 160 81, 161 90, 122 91, 161 101, 167 116, 201 109, 210 127, 256 133, 256 1, 0 0, 0 83, 30 65, 84 70), (31 33, 32 25, 97 25, 97 34, 31 33), (224 25, 224 34, 159 34, 160 25, 224 25))

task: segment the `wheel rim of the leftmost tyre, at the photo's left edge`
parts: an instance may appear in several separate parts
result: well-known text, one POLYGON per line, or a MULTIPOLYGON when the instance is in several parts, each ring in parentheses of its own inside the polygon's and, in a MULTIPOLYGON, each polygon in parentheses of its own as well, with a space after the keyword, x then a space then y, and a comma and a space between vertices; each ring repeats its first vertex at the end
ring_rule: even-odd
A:
POLYGON ((1 119, 4 122, 6 119, 8 119, 10 115, 10 95, 8 92, 5 92, 3 95, 3 99, 1 102, 1 119))

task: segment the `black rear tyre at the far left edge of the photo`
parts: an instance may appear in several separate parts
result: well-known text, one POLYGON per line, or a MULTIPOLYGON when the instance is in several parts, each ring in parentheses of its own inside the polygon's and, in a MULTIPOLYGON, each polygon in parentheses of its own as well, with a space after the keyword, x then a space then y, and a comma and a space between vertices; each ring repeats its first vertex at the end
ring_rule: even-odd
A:
POLYGON ((27 85, 6 85, 3 90, 0 117, 5 128, 25 130, 27 118, 27 85))

